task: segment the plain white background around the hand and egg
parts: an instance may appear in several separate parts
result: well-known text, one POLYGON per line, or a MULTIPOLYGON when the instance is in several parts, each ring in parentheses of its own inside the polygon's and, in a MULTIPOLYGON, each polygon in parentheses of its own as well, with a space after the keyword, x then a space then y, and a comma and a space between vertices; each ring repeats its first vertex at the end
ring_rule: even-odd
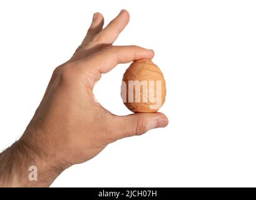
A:
MULTIPOLYGON (((115 44, 155 50, 170 123, 110 144, 52 186, 256 186, 255 1, 0 1, 0 149, 21 136, 93 13, 108 23, 123 8, 130 24, 115 44)), ((130 114, 120 97, 127 67, 95 88, 114 114, 130 114)))

